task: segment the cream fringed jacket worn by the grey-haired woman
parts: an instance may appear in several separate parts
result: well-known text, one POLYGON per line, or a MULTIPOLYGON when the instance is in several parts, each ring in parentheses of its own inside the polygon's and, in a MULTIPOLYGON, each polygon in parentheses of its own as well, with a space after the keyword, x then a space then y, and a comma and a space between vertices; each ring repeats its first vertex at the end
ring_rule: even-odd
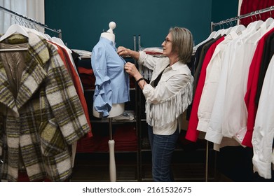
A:
POLYGON ((170 64, 167 57, 152 57, 145 52, 139 54, 138 64, 153 70, 150 84, 144 85, 143 89, 146 98, 146 123, 153 127, 154 134, 173 134, 178 118, 192 102, 191 71, 181 62, 167 67, 170 64), (154 80, 162 71, 158 85, 153 87, 154 80))

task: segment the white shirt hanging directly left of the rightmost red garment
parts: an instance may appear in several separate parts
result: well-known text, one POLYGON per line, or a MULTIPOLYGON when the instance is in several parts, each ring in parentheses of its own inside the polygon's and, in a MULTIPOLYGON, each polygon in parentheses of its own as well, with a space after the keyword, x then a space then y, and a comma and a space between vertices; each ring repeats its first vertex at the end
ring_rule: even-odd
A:
MULTIPOLYGON (((258 22, 258 21, 257 21, 258 22)), ((258 24, 263 23, 262 21, 258 24)), ((261 27, 261 25, 259 25, 261 27)), ((247 106, 245 94, 247 92, 247 79, 249 66, 256 50, 257 40, 266 29, 252 29, 246 36, 240 36, 235 43, 233 51, 234 62, 231 62, 228 73, 222 133, 226 137, 235 138, 240 144, 247 132, 247 106)))

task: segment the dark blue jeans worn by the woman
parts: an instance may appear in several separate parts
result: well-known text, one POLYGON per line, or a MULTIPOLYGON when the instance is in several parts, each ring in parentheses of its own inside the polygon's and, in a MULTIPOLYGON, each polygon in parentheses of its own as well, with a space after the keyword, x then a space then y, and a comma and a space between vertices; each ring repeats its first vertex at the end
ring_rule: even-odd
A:
POLYGON ((149 142, 152 154, 152 178, 156 182, 174 181, 171 168, 172 153, 176 147, 179 130, 172 135, 153 134, 149 126, 149 142))

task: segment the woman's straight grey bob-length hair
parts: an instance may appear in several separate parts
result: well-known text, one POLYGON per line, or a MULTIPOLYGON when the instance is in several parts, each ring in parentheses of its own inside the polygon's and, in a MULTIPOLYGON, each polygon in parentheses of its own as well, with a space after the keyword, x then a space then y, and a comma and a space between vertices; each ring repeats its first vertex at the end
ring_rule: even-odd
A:
POLYGON ((177 52, 180 62, 189 63, 193 52, 191 31, 186 28, 174 27, 170 28, 169 32, 172 35, 172 52, 177 52))

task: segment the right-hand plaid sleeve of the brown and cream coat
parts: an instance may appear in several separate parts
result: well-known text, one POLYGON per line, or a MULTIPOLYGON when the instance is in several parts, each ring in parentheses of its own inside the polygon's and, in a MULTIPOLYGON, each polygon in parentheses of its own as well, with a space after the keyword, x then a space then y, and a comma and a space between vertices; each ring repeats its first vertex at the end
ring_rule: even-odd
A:
POLYGON ((50 45, 48 47, 50 59, 47 62, 46 97, 64 139, 67 144, 73 144, 88 133, 88 122, 62 59, 57 50, 50 45))

